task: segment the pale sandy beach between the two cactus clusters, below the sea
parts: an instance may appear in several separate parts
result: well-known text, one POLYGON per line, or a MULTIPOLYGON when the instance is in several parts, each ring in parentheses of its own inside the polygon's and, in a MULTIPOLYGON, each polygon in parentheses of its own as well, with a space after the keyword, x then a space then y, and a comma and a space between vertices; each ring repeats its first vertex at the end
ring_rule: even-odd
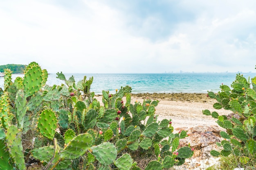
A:
MULTIPOLYGON (((97 95, 97 100, 102 101, 102 96, 97 95)), ((144 99, 159 100, 155 113, 158 120, 172 119, 174 129, 188 129, 195 126, 218 125, 216 119, 205 116, 202 110, 217 111, 219 115, 228 115, 232 111, 213 108, 217 101, 207 94, 200 93, 173 93, 173 94, 132 94, 132 103, 136 100, 143 102, 144 99)))

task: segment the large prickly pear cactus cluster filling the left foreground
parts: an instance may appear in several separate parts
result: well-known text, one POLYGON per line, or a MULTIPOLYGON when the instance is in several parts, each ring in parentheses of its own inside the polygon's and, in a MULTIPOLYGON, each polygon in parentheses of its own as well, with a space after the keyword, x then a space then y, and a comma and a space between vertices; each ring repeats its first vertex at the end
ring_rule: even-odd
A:
POLYGON ((47 71, 35 62, 14 82, 10 70, 5 75, 0 90, 0 169, 23 170, 33 159, 44 169, 138 170, 135 152, 155 153, 156 160, 146 169, 164 169, 193 155, 189 147, 178 148, 186 131, 174 134, 171 120, 157 120, 158 101, 132 104, 129 86, 115 94, 102 91, 101 106, 90 92, 93 77, 76 83, 61 72, 57 78, 65 84, 49 86, 47 71))

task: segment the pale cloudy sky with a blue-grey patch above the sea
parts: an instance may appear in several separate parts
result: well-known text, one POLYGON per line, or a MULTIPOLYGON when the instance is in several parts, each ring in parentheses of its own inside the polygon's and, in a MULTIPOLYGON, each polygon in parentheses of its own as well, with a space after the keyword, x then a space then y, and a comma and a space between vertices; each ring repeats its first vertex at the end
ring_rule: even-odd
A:
POLYGON ((255 0, 1 0, 0 65, 256 72, 255 0))

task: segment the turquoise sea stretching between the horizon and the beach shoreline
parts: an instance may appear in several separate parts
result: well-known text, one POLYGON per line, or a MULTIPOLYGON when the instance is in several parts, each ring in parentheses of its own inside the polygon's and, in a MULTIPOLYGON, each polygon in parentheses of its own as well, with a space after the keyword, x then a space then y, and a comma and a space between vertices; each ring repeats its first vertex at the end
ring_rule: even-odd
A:
MULTIPOLYGON (((75 81, 83 80, 84 76, 93 77, 91 92, 102 94, 102 90, 115 93, 126 85, 132 87, 132 93, 207 93, 219 92, 220 85, 230 85, 236 79, 237 73, 164 73, 164 74, 65 74, 66 79, 74 76, 75 81)), ((245 78, 253 78, 256 73, 241 73, 245 78)), ((23 74, 13 74, 16 77, 23 74)), ((56 78, 56 74, 49 74, 48 85, 61 85, 65 81, 56 78)), ((3 89, 4 78, 0 78, 3 89)))

